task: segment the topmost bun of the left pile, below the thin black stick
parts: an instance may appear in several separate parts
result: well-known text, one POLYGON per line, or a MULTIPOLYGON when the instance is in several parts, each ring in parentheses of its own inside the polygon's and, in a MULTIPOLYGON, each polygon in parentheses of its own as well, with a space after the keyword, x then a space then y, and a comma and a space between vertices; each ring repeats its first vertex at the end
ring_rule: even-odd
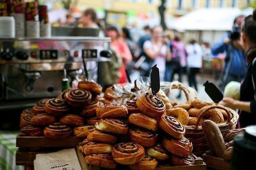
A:
POLYGON ((81 81, 78 83, 77 88, 90 91, 94 95, 99 95, 102 92, 102 86, 96 82, 81 81))

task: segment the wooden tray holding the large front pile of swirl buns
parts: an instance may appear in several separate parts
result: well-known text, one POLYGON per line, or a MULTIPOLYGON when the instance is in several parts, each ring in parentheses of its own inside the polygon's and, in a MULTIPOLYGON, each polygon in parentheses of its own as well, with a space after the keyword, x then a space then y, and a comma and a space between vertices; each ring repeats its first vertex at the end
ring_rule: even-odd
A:
MULTIPOLYGON (((82 170, 109 170, 107 168, 101 168, 93 165, 88 165, 85 162, 84 155, 80 152, 79 147, 76 147, 77 157, 79 159, 80 165, 82 170)), ((188 165, 188 166, 174 166, 174 167, 158 167, 155 170, 206 170, 206 164, 203 162, 203 159, 200 157, 196 157, 192 154, 195 158, 195 165, 188 165)), ((122 169, 125 170, 125 169, 122 169)), ((130 170, 127 168, 127 170, 130 170)))

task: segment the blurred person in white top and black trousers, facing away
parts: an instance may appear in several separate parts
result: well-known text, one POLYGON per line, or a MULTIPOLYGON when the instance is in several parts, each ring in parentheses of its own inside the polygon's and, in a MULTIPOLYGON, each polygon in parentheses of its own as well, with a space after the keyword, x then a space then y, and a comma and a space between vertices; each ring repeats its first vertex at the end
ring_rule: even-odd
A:
POLYGON ((201 46, 194 39, 189 42, 186 51, 188 53, 187 69, 189 86, 195 87, 195 90, 198 91, 195 76, 199 73, 200 68, 202 67, 203 51, 201 46))

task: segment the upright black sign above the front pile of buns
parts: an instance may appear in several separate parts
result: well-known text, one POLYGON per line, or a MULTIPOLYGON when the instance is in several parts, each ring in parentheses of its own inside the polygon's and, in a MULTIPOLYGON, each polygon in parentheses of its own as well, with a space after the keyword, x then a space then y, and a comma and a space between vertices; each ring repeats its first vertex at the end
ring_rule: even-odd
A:
POLYGON ((154 65, 152 67, 150 80, 151 80, 152 94, 156 95, 157 92, 160 90, 160 77, 159 77, 159 69, 157 68, 157 65, 154 65))

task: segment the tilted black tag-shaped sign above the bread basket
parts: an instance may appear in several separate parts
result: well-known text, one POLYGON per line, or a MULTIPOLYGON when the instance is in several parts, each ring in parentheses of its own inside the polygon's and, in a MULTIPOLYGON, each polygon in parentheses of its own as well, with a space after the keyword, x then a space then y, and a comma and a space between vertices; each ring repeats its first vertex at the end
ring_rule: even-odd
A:
POLYGON ((223 94, 213 83, 207 80, 207 82, 204 83, 204 87, 205 92, 213 100, 213 102, 218 103, 223 99, 223 94))

